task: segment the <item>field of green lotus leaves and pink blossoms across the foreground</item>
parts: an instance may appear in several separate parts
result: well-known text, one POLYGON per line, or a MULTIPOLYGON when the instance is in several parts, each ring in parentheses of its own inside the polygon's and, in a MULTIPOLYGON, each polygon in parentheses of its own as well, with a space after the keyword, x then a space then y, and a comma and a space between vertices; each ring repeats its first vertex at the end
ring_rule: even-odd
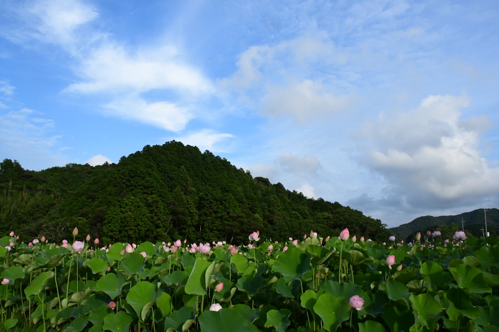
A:
POLYGON ((498 238, 428 235, 99 247, 11 232, 0 331, 499 331, 498 238))

